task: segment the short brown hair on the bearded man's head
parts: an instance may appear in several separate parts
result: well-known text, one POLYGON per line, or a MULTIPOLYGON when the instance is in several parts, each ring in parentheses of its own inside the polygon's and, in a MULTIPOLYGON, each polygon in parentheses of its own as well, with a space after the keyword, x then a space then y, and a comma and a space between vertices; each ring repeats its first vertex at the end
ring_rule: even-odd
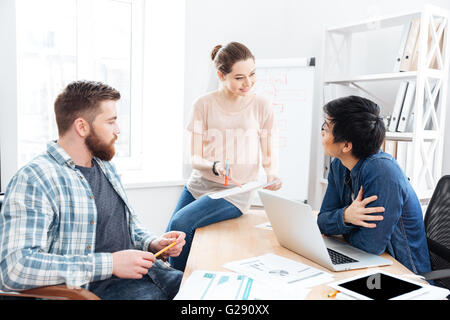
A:
POLYGON ((119 99, 119 91, 101 82, 81 80, 69 83, 55 101, 59 135, 66 133, 79 117, 92 123, 100 111, 100 102, 119 99))

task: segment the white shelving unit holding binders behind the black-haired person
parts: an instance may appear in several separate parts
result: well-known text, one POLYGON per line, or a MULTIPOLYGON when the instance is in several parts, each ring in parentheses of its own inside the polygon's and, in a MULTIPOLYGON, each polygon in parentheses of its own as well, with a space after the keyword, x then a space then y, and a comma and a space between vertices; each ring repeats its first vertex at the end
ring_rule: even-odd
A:
MULTIPOLYGON (((376 97, 369 89, 364 88, 367 83, 377 83, 382 86, 387 82, 414 80, 416 82, 415 101, 412 106, 414 122, 411 132, 387 132, 386 140, 407 141, 412 147, 410 161, 410 181, 421 200, 429 199, 442 175, 443 140, 446 113, 446 98, 449 73, 449 41, 448 41, 449 12, 442 8, 426 5, 422 11, 407 12, 395 16, 385 16, 368 19, 354 24, 329 28, 324 38, 324 67, 322 74, 323 100, 327 102, 325 89, 329 85, 342 85, 356 88, 366 96, 372 97, 382 109, 391 109, 393 105, 386 103, 385 97, 376 97), (384 28, 409 25, 412 19, 420 18, 418 38, 417 71, 351 74, 352 40, 353 37, 365 36, 365 33, 384 28), (441 27, 436 30, 435 22, 439 19, 441 27), (424 27, 425 26, 425 27, 424 27), (429 42, 429 36, 432 41, 429 42), (439 43, 443 37, 442 51, 439 43), (433 56, 437 57, 438 69, 431 69, 433 56), (430 90, 435 82, 434 90, 430 90), (438 97, 438 98, 437 98, 438 97)), ((383 45, 382 43, 380 45, 383 45)), ((338 98, 338 96, 334 97, 338 98)), ((323 115, 319 117, 320 124, 323 115)), ((318 166, 319 189, 322 194, 326 190, 327 180, 324 177, 325 155, 319 148, 318 159, 322 163, 318 166)))

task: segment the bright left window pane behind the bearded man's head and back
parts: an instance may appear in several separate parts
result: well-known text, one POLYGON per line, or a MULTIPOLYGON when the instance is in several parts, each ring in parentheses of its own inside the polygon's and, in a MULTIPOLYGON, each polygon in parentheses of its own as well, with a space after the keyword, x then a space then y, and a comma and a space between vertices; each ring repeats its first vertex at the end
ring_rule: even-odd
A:
POLYGON ((53 102, 61 88, 77 78, 77 30, 76 1, 20 0, 16 5, 21 167, 57 138, 53 102))

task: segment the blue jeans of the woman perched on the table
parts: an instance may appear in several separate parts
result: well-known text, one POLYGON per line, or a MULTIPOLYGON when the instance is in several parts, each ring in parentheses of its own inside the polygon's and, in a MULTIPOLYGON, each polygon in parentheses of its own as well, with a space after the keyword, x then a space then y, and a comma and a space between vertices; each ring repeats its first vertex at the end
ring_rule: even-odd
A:
POLYGON ((183 231, 186 233, 186 244, 178 257, 169 258, 170 264, 184 271, 195 229, 241 215, 242 212, 225 199, 211 199, 203 196, 195 200, 184 187, 166 231, 183 231))

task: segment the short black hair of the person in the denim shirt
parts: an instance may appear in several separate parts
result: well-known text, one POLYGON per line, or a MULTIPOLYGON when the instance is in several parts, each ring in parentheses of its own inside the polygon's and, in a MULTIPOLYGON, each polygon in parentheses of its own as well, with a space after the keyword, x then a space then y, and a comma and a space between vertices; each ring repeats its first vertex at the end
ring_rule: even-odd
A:
POLYGON ((358 159, 378 153, 386 128, 376 103, 348 96, 328 102, 323 111, 334 125, 334 142, 351 142, 352 154, 358 159))

